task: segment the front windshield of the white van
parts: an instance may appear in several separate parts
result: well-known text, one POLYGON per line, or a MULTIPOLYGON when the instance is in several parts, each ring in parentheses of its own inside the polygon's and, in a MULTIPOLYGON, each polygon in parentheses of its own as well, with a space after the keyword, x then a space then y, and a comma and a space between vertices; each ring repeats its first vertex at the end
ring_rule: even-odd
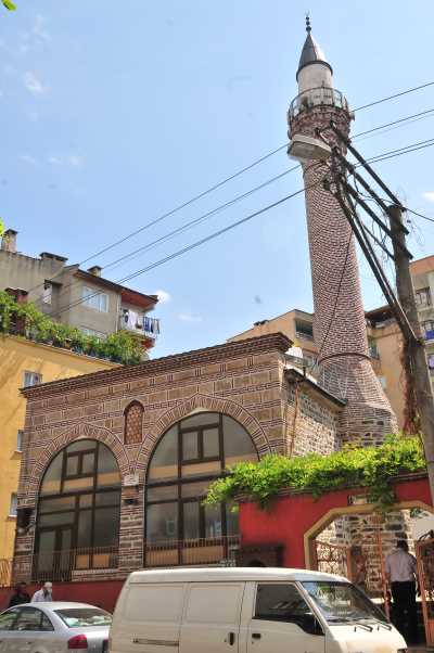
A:
POLYGON ((387 620, 382 611, 350 582, 310 580, 302 585, 329 624, 387 620))

